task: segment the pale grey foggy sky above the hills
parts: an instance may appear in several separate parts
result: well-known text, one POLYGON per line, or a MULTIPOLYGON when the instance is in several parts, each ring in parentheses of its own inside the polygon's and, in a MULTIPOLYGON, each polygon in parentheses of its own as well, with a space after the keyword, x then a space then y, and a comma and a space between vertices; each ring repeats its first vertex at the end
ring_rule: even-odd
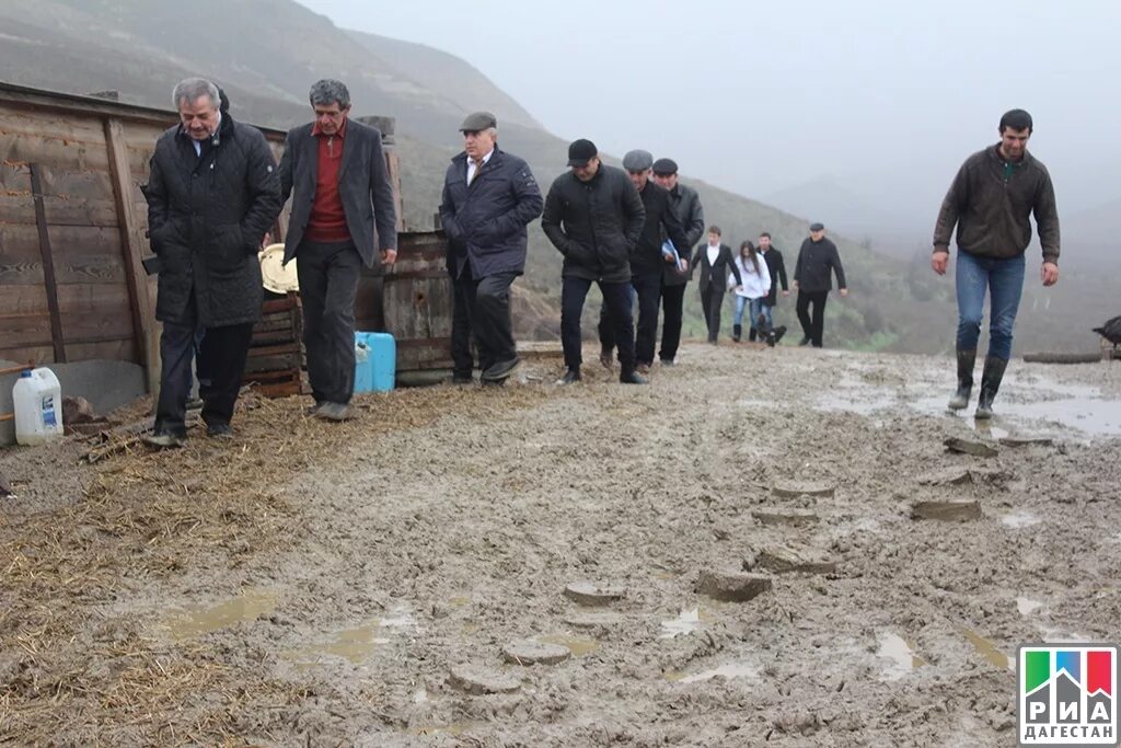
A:
POLYGON ((1016 107, 1063 213, 1121 197, 1118 0, 299 2, 466 59, 562 138, 751 197, 828 175, 933 227, 1016 107))

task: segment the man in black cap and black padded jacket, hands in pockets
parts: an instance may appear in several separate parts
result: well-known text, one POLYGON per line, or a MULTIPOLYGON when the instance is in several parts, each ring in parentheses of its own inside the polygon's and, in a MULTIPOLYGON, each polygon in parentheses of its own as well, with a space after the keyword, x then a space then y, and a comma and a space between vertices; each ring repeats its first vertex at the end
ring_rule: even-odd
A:
POLYGON ((567 370, 559 384, 580 381, 583 361, 580 317, 593 283, 614 324, 619 381, 643 385, 634 370, 630 258, 646 222, 638 190, 622 170, 600 161, 591 140, 568 146, 571 172, 558 176, 545 198, 541 229, 564 255, 560 288, 560 343, 567 370))

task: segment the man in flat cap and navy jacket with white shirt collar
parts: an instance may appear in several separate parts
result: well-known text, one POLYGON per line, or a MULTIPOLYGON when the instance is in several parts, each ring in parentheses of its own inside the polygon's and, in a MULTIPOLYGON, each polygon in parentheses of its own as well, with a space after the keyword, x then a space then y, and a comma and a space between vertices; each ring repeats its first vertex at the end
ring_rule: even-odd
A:
POLYGON ((463 153, 444 177, 439 218, 447 232, 454 286, 453 381, 473 381, 471 335, 480 379, 501 385, 518 367, 510 285, 526 269, 526 227, 541 214, 541 192, 525 160, 498 147, 498 120, 469 114, 460 126, 463 153))

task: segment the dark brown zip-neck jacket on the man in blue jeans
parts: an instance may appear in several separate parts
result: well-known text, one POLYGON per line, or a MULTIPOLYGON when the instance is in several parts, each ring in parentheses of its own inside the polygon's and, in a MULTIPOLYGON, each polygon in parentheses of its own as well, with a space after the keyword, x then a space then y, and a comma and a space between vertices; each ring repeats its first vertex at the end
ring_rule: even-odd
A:
POLYGON ((949 251, 957 227, 957 248, 970 255, 1007 258, 1022 255, 1031 242, 1035 213, 1044 261, 1058 262, 1058 210, 1050 174, 1025 151, 1019 164, 1007 165, 1000 146, 980 150, 962 164, 934 227, 934 251, 949 251))

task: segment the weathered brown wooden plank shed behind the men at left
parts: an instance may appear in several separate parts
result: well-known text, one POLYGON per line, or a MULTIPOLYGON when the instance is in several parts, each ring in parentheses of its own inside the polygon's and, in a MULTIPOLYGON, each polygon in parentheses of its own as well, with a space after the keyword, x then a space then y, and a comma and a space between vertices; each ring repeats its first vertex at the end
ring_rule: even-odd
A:
MULTIPOLYGON (((172 110, 0 83, 0 359, 131 361, 145 367, 155 391, 159 323, 156 277, 141 266, 149 249, 140 184, 156 139, 176 121, 172 110)), ((389 130, 387 160, 400 205, 392 123, 376 123, 389 130)), ((260 129, 279 159, 285 133, 260 129)), ((400 218, 398 224, 400 230, 400 218)), ((278 239, 286 225, 287 211, 278 239)), ((443 236, 402 233, 401 251, 433 241, 443 236)), ((380 275, 363 281, 360 316, 379 327, 382 320, 414 313, 430 317, 425 304, 417 307, 423 298, 382 314, 381 278, 371 277, 380 275)), ((447 311, 427 336, 443 344, 450 299, 438 301, 447 311)), ((425 363, 443 366, 436 359, 425 363)))

